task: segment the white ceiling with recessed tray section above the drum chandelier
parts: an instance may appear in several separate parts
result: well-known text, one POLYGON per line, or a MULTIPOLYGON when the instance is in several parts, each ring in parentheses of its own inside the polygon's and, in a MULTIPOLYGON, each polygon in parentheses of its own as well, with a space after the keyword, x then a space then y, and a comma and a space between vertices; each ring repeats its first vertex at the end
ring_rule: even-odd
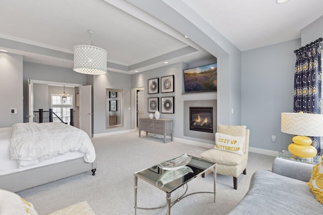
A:
MULTIPOLYGON (((73 68, 73 47, 88 42, 87 31, 92 30, 96 43, 93 45, 107 50, 107 68, 111 71, 133 74, 163 66, 164 61, 194 63, 214 59, 183 33, 161 22, 153 13, 148 14, 138 2, 144 3, 1 0, 0 48, 23 55, 24 61, 73 68)), ((276 0, 153 3, 160 2, 187 20, 190 13, 196 13, 204 24, 216 29, 240 51, 300 38, 301 29, 323 15, 322 0, 290 0, 284 4, 277 4, 276 0), (186 7, 179 7, 183 4, 186 7)), ((158 8, 154 11, 160 13, 158 8)))

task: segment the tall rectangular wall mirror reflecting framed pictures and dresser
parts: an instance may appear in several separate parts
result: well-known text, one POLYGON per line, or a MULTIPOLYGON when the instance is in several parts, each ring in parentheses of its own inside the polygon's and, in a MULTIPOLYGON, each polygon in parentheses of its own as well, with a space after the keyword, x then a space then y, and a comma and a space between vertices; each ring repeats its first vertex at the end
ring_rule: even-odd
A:
POLYGON ((106 89, 106 128, 123 127, 124 91, 106 89))

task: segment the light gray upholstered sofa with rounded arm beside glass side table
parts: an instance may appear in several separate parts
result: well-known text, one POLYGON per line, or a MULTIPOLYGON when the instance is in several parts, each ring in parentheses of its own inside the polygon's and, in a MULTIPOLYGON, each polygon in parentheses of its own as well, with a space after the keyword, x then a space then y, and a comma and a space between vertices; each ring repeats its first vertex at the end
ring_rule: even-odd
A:
POLYGON ((323 204, 310 191, 313 165, 275 158, 272 172, 258 170, 234 214, 323 214, 323 204))

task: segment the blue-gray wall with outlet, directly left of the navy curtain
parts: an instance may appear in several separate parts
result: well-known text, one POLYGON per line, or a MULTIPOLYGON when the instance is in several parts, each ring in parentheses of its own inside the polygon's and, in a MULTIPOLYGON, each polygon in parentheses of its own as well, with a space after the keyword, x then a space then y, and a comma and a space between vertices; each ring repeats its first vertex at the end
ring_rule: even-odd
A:
POLYGON ((293 51, 299 47, 297 39, 242 52, 241 123, 250 129, 250 147, 282 151, 291 143, 280 131, 281 113, 293 112, 293 51))

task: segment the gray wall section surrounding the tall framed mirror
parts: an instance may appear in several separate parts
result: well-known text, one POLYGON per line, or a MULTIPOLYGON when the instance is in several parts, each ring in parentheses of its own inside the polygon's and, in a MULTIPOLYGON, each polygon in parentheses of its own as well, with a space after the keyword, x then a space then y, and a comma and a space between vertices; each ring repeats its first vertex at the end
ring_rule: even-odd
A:
MULTIPOLYGON (((131 76, 114 71, 105 75, 93 76, 93 134, 107 133, 131 129, 131 76), (124 90, 124 126, 106 128, 106 94, 105 89, 124 90)), ((108 107, 109 108, 109 107, 108 107)))

